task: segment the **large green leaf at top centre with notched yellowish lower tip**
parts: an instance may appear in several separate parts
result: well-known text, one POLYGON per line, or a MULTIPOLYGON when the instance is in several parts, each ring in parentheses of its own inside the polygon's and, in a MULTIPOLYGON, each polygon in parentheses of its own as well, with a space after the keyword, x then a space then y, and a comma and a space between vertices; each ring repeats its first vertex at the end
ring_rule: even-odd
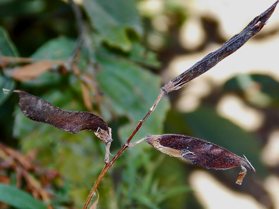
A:
POLYGON ((127 30, 142 34, 135 0, 85 0, 83 7, 91 24, 111 47, 131 50, 127 30))

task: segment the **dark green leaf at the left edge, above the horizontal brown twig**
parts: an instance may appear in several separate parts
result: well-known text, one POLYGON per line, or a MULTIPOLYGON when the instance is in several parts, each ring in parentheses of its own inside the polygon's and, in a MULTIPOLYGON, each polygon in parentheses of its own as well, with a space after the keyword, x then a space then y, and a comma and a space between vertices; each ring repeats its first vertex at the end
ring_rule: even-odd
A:
POLYGON ((7 31, 0 26, 0 55, 19 57, 19 53, 11 41, 7 31))

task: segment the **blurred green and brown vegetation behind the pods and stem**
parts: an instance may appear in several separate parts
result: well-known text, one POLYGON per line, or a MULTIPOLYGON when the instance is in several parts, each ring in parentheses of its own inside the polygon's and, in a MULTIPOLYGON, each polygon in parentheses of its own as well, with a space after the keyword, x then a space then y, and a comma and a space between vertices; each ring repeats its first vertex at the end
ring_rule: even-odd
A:
MULTIPOLYGON (((65 110, 101 115, 112 128, 115 154, 156 100, 164 82, 161 69, 177 54, 225 41, 218 24, 204 19, 207 38, 198 48, 185 50, 177 41, 189 18, 184 4, 159 1, 162 9, 148 12, 148 2, 84 0, 80 14, 73 2, 0 1, 0 87, 21 89, 65 110), (167 30, 156 27, 166 17, 167 30)), ((188 182, 194 170, 206 170, 231 189, 274 207, 263 181, 279 170, 264 164, 261 152, 279 126, 278 81, 237 75, 210 88, 200 106, 188 113, 171 105, 181 91, 164 97, 134 140, 162 133, 198 137, 245 154, 257 172, 248 171, 239 186, 234 181, 240 169, 199 168, 143 142, 126 150, 106 174, 98 208, 202 208, 188 182), (221 117, 216 106, 228 93, 260 111, 262 126, 246 131, 221 117)), ((0 105, 0 202, 7 203, 0 208, 81 208, 104 166, 104 143, 90 131, 72 135, 27 119, 15 94, 0 93, 0 105)))

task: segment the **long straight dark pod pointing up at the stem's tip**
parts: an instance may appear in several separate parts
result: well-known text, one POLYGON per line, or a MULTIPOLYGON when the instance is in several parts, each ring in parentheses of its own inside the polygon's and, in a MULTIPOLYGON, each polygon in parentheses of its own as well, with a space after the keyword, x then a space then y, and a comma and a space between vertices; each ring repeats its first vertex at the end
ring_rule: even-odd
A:
POLYGON ((210 68, 214 67, 217 63, 219 63, 222 59, 232 54, 236 50, 238 50, 241 46, 243 46, 250 38, 254 37, 266 24, 269 17, 272 15, 277 3, 277 0, 271 7, 269 7, 266 11, 264 11, 259 16, 255 17, 246 28, 244 28, 240 33, 233 36, 230 40, 225 42, 221 48, 207 54, 202 60, 194 64, 185 72, 181 73, 176 78, 172 79, 162 88, 162 92, 164 94, 169 93, 170 91, 174 91, 182 88, 186 85, 188 81, 193 80, 197 76, 200 76, 204 72, 208 71, 210 68))

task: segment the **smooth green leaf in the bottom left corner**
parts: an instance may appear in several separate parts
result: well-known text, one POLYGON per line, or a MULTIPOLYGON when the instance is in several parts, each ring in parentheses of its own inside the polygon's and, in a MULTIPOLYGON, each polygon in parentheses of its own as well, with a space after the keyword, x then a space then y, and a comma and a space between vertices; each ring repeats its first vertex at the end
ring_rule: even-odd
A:
POLYGON ((19 209, 46 209, 44 204, 14 186, 0 183, 0 202, 19 209))

